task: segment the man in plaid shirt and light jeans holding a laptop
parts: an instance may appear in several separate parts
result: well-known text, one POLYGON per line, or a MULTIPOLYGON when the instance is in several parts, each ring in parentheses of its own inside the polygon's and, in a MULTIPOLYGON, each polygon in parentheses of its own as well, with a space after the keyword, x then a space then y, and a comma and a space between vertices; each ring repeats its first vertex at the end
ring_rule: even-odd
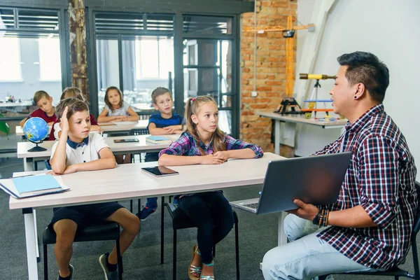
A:
POLYGON ((351 151, 353 158, 335 204, 294 201, 299 208, 284 221, 292 242, 266 253, 265 279, 384 270, 404 262, 409 250, 418 205, 416 167, 382 104, 388 68, 369 52, 337 60, 332 106, 349 123, 337 141, 314 155, 351 151), (327 216, 325 222, 319 213, 327 216))

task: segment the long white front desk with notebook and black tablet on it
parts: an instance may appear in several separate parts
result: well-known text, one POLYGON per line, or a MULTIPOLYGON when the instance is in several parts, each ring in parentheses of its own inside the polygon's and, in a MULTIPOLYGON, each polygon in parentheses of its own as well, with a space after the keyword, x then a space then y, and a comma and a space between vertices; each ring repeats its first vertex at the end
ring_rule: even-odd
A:
MULTIPOLYGON (((21 200, 10 197, 10 209, 22 209, 24 215, 29 280, 38 280, 33 209, 260 185, 264 181, 268 162, 280 159, 285 158, 265 153, 264 157, 258 160, 229 160, 223 165, 170 167, 179 172, 179 175, 168 177, 154 177, 141 172, 141 167, 151 167, 156 165, 156 162, 118 165, 115 169, 76 172, 61 176, 63 183, 70 188, 65 193, 21 200)), ((18 172, 13 176, 36 173, 41 172, 18 172)), ((281 218, 279 222, 282 227, 281 218)), ((281 235, 283 230, 280 225, 279 229, 281 235)))

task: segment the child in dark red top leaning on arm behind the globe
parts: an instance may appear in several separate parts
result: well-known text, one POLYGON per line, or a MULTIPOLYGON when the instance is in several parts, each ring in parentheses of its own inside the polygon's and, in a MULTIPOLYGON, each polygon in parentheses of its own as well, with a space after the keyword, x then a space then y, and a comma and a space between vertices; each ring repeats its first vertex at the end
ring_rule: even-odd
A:
POLYGON ((57 117, 55 116, 55 109, 54 106, 52 106, 52 97, 50 97, 50 94, 43 90, 38 90, 34 94, 34 103, 36 106, 38 106, 38 109, 33 111, 29 114, 26 118, 20 121, 19 125, 23 127, 25 125, 26 121, 29 118, 42 118, 45 120, 45 122, 48 124, 48 126, 51 126, 55 121, 57 120, 57 117))

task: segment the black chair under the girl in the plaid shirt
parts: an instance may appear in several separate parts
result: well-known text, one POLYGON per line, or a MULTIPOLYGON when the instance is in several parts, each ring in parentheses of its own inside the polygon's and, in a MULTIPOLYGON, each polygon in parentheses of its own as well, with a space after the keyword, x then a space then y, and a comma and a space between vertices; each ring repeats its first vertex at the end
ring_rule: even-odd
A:
MULTIPOLYGON (((181 230, 183 228, 195 228, 193 221, 183 214, 183 211, 179 209, 176 204, 163 203, 168 211, 169 215, 172 218, 172 228, 174 229, 174 259, 172 267, 172 277, 176 280, 176 230, 181 230)), ((164 255, 164 211, 162 209, 161 214, 161 227, 160 227, 160 263, 163 264, 163 255, 164 255)), ((238 235, 238 216, 233 210, 233 218, 235 221, 235 254, 236 254, 236 269, 237 269, 237 280, 239 280, 239 235, 238 235)), ((213 248, 213 255, 216 255, 216 247, 213 248)))

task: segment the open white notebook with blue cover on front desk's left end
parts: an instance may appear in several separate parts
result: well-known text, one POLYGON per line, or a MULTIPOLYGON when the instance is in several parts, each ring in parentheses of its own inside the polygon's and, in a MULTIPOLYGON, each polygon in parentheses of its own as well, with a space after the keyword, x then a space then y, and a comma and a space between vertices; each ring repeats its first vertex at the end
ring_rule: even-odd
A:
POLYGON ((50 174, 30 175, 0 180, 0 188, 15 198, 61 193, 69 190, 61 177, 50 174))

